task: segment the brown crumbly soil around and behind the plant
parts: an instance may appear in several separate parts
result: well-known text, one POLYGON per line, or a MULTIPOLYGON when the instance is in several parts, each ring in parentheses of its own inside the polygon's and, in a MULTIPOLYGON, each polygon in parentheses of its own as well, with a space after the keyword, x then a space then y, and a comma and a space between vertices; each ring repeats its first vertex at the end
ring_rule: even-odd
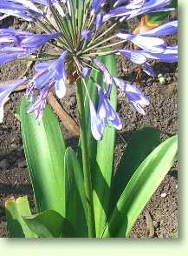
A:
MULTIPOLYGON (((170 42, 174 38, 169 38, 170 42)), ((162 131, 162 138, 178 132, 178 71, 177 64, 156 64, 155 70, 163 78, 151 78, 143 75, 138 87, 150 98, 146 116, 141 116, 128 104, 126 98, 119 95, 118 111, 123 123, 120 135, 127 139, 131 132, 141 125, 150 125, 162 131), (163 80, 163 81, 162 81, 163 80), (161 81, 163 83, 161 83, 161 81)), ((0 66, 0 83, 14 80, 26 69, 24 62, 14 61, 0 66)), ((137 67, 118 57, 119 76, 127 81, 135 81, 137 67)), ((0 237, 9 237, 4 212, 4 201, 10 196, 29 196, 33 207, 33 192, 23 153, 20 122, 16 118, 23 92, 14 92, 5 104, 3 124, 0 125, 0 237)), ((61 100, 68 114, 77 119, 75 92, 61 100)), ((75 139, 63 128, 68 144, 75 146, 75 139)), ((115 163, 120 161, 123 141, 117 138, 115 163)), ((133 226, 132 238, 156 237, 171 238, 178 232, 178 167, 174 165, 166 175, 158 190, 140 214, 133 226)))

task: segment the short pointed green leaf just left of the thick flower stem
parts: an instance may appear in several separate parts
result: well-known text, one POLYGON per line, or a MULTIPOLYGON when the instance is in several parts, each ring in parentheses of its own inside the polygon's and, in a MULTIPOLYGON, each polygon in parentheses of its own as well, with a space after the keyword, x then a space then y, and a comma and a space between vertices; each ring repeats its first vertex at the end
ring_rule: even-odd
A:
POLYGON ((75 230, 74 237, 88 237, 83 173, 70 147, 65 152, 65 200, 65 218, 75 230))

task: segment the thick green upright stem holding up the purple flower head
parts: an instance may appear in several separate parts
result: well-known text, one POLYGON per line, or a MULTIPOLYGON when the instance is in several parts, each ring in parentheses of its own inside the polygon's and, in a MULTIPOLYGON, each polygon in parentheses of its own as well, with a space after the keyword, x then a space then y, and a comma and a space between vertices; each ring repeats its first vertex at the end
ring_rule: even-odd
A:
POLYGON ((84 96, 83 89, 81 86, 81 78, 77 80, 76 83, 76 98, 80 114, 80 138, 81 138, 81 152, 82 152, 82 162, 83 162, 83 174, 85 191, 87 196, 87 209, 88 209, 88 237, 95 237, 95 225, 94 225, 94 202, 93 202, 93 189, 91 172, 89 165, 89 153, 88 153, 88 136, 87 136, 87 125, 86 116, 84 108, 84 96))

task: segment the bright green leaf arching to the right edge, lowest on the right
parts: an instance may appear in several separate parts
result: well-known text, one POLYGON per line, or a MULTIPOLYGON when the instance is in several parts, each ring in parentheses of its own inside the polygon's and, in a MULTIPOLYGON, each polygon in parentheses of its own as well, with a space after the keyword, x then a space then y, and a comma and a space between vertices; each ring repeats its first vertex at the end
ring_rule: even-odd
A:
POLYGON ((160 144, 134 172, 113 209, 102 237, 127 237, 153 192, 172 167, 178 152, 178 137, 160 144))

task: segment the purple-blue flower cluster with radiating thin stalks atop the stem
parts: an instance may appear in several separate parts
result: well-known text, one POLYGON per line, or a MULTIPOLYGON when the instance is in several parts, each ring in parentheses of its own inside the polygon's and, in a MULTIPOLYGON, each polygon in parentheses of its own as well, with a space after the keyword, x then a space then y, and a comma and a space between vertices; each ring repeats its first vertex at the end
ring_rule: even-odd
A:
MULTIPOLYGON (((99 94, 97 106, 88 95, 94 138, 102 138, 109 121, 116 129, 122 127, 120 117, 109 101, 112 86, 126 94, 136 111, 145 114, 144 108, 149 104, 149 100, 134 84, 113 77, 97 57, 109 54, 122 55, 138 64, 151 76, 154 76, 155 72, 148 60, 177 62, 178 46, 168 46, 164 40, 164 36, 177 33, 177 21, 137 34, 130 34, 126 29, 120 30, 122 24, 133 17, 172 10, 169 8, 171 2, 0 0, 0 19, 8 16, 23 18, 42 30, 41 34, 35 34, 29 30, 0 29, 0 64, 18 58, 27 60, 31 55, 36 61, 34 77, 20 77, 14 84, 0 84, 0 121, 3 121, 3 104, 11 91, 19 85, 27 84, 26 93, 33 102, 28 111, 35 112, 36 118, 41 120, 49 91, 55 89, 56 96, 62 98, 66 92, 66 81, 70 72, 76 78, 84 80, 88 77, 94 80, 91 77, 92 69, 101 72, 105 84, 94 82, 99 94), (133 49, 126 49, 125 42, 132 43, 133 49), (48 52, 46 44, 50 44, 55 53, 48 52)), ((83 83, 83 86, 86 86, 86 83, 83 83)))

